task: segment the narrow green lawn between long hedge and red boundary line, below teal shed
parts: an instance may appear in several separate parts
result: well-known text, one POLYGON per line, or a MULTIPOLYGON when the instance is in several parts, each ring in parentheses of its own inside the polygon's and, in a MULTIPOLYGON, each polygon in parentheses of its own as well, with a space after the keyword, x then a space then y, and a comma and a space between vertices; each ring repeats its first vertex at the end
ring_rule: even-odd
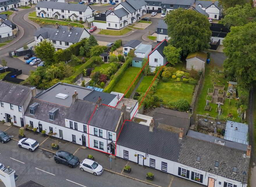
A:
POLYGON ((130 86, 132 81, 135 79, 138 72, 141 68, 130 67, 128 68, 122 78, 118 81, 118 83, 113 88, 113 92, 125 93, 127 88, 130 86))

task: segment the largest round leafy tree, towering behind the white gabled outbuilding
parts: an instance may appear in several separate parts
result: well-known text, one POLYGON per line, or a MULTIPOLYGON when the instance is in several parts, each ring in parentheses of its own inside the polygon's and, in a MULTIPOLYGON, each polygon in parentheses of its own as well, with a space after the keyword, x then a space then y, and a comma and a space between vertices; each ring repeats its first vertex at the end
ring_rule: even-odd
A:
POLYGON ((168 12, 165 22, 170 44, 181 48, 184 55, 209 48, 211 24, 205 15, 178 8, 168 12))

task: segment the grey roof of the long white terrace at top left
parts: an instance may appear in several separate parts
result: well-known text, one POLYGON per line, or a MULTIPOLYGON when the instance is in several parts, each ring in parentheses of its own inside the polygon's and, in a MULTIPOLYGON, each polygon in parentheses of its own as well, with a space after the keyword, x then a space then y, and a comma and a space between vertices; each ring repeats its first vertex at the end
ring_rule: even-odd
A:
POLYGON ((61 3, 55 1, 38 1, 35 7, 85 12, 88 5, 75 3, 61 3))

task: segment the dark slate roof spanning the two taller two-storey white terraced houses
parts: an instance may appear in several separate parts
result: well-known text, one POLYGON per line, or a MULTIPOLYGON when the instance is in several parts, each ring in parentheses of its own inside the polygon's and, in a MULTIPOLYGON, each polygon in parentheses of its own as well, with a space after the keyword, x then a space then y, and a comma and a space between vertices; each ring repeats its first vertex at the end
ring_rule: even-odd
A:
POLYGON ((95 103, 77 99, 74 104, 70 106, 66 118, 88 124, 92 116, 90 125, 115 132, 115 128, 121 116, 121 110, 100 105, 93 114, 94 109, 95 103))

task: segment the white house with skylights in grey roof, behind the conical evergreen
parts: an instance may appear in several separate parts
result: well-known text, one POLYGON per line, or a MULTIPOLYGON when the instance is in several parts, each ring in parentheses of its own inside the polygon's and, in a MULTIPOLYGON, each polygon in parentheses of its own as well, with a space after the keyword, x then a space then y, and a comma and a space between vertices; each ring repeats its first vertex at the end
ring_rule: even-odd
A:
POLYGON ((85 28, 72 26, 59 26, 57 23, 55 28, 41 27, 35 34, 35 45, 46 39, 51 41, 56 50, 66 49, 70 45, 81 41, 83 38, 90 37, 90 33, 85 28))

